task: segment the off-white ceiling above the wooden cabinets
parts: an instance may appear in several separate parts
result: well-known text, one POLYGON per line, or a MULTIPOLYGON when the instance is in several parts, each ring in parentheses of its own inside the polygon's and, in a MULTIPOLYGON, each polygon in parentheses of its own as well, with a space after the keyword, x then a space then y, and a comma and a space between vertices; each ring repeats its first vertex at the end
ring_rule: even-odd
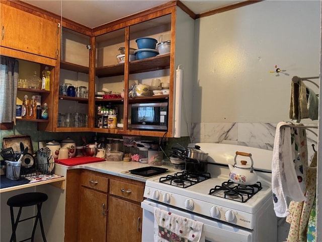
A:
MULTIPOLYGON (((169 2, 170 0, 22 0, 89 28, 169 2), (61 11, 62 10, 62 11, 61 11)), ((182 0, 195 14, 225 7, 242 0, 182 0)))

